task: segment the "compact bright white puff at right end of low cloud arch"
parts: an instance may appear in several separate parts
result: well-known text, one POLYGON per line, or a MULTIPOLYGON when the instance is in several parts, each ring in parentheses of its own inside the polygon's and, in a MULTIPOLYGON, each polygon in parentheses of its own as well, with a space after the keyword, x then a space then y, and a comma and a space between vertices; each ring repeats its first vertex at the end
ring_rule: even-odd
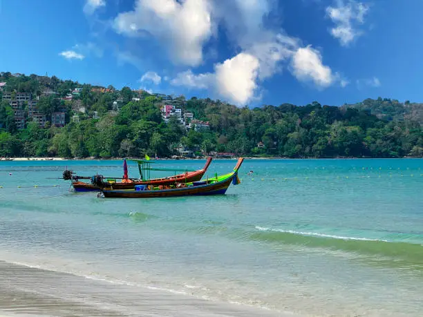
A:
POLYGON ((299 81, 314 81, 322 88, 330 86, 336 79, 330 67, 323 65, 320 52, 311 46, 299 48, 292 57, 291 66, 299 81))

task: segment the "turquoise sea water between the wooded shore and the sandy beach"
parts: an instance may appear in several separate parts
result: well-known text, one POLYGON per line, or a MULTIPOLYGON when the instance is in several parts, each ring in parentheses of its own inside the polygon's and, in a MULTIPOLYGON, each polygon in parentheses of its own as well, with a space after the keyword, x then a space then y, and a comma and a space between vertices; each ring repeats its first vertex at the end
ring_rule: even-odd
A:
POLYGON ((225 196, 148 200, 70 192, 50 179, 66 166, 122 175, 0 162, 0 260, 303 315, 423 315, 423 160, 246 160, 225 196))

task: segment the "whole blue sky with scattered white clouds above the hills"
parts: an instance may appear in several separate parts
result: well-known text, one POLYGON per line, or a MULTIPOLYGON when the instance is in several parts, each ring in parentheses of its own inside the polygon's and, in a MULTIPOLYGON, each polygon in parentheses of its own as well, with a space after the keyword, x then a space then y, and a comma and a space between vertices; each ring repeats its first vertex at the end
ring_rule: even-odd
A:
POLYGON ((0 0, 0 70, 243 106, 422 102, 420 0, 0 0))

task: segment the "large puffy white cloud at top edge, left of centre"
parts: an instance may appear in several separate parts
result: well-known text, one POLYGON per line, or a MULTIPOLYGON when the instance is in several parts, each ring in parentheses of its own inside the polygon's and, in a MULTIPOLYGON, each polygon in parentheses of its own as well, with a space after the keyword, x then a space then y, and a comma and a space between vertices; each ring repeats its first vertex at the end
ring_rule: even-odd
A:
POLYGON ((212 35, 212 18, 207 0, 137 0, 133 11, 115 18, 114 28, 131 37, 152 35, 174 62, 197 66, 212 35))

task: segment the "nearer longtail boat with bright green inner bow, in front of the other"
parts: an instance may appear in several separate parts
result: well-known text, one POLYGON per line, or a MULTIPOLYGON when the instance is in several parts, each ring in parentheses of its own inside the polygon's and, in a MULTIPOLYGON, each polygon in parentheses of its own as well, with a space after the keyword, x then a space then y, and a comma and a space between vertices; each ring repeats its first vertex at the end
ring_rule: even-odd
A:
POLYGON ((139 186, 130 190, 103 189, 99 197, 104 198, 164 198, 198 195, 224 195, 230 184, 239 184, 238 169, 243 164, 243 157, 238 159, 234 171, 200 182, 177 183, 171 186, 139 186), (141 188, 144 187, 144 188, 141 188))

